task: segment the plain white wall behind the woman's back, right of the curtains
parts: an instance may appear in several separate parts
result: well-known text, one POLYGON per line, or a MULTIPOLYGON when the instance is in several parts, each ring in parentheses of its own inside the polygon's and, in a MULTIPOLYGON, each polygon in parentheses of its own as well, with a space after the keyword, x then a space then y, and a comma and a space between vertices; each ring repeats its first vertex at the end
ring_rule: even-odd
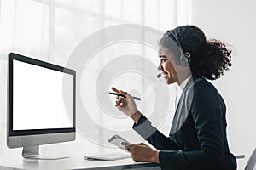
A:
POLYGON ((253 0, 193 0, 192 3, 192 24, 201 27, 208 38, 223 40, 233 47, 233 66, 214 84, 228 108, 230 150, 236 155, 246 155, 238 160, 238 169, 243 169, 256 147, 255 6, 253 0))

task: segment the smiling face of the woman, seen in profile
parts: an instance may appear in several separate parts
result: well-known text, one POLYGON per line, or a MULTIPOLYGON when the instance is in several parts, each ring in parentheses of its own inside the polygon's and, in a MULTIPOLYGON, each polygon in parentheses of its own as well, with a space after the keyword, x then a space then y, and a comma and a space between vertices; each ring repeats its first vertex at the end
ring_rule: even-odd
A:
POLYGON ((166 79, 166 83, 179 83, 177 71, 179 70, 180 65, 176 64, 173 54, 170 53, 167 48, 160 46, 159 58, 160 65, 158 70, 162 71, 162 77, 166 79))

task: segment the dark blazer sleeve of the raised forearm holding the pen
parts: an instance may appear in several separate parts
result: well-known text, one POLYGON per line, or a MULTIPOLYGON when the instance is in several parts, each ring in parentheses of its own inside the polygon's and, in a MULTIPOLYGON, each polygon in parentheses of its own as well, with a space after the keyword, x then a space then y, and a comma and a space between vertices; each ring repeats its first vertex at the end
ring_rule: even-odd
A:
POLYGON ((167 138, 163 133, 160 133, 145 116, 142 115, 132 128, 157 150, 175 150, 171 137, 167 138))

